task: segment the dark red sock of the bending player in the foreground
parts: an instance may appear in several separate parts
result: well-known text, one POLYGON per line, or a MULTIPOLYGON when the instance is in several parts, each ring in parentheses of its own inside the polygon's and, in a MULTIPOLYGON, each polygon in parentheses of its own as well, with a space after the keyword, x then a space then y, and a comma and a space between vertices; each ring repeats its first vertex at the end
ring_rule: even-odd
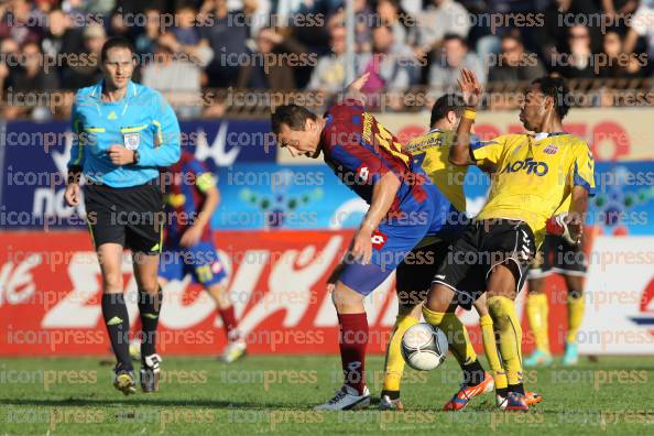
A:
POLYGON ((338 315, 340 324, 340 360, 345 383, 363 392, 366 388, 366 347, 368 346, 368 318, 362 314, 338 315))

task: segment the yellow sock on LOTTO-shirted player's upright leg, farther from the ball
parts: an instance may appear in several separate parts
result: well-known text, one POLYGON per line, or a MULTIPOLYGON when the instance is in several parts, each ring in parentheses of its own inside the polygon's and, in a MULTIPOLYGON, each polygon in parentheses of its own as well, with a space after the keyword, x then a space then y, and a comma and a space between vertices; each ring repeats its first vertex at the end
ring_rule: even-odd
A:
POLYGON ((522 383, 522 327, 515 304, 503 296, 488 299, 488 308, 500 336, 500 355, 509 384, 522 383))

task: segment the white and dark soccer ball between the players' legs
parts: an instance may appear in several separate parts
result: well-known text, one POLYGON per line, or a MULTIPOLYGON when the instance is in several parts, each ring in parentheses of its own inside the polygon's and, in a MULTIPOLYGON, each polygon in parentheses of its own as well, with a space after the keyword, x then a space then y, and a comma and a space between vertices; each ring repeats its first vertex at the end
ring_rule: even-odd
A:
POLYGON ((418 371, 437 368, 447 353, 447 337, 442 329, 426 323, 412 326, 402 337, 402 357, 418 371))

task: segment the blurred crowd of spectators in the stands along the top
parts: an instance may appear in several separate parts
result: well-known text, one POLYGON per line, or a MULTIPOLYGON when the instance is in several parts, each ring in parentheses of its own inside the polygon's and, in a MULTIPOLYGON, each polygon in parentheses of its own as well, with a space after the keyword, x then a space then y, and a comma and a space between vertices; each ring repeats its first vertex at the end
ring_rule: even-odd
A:
POLYGON ((206 89, 336 92, 348 67, 371 74, 370 95, 447 91, 462 67, 490 88, 547 73, 628 87, 654 74, 654 0, 355 0, 355 14, 346 65, 344 0, 3 1, 0 90, 14 102, 4 116, 52 116, 53 105, 15 101, 98 81, 115 35, 134 44, 135 80, 182 117, 222 113, 210 98, 197 103, 206 89))

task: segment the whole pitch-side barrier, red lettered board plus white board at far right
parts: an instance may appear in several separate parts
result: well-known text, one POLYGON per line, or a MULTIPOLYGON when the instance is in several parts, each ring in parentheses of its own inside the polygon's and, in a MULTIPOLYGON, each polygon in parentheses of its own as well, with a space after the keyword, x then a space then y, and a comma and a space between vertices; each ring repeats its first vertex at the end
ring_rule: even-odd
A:
MULTIPOLYGON (((216 232, 229 271, 228 288, 252 353, 335 353, 338 324, 325 281, 351 238, 341 231, 216 232)), ((2 356, 102 355, 109 350, 101 320, 100 271, 83 231, 0 235, 0 336, 2 356)), ((653 237, 599 237, 590 257, 587 313, 579 334, 582 353, 654 353, 653 237)), ((164 258, 165 259, 165 258, 164 258)), ((123 262, 132 326, 138 318, 131 261, 123 262)), ((383 352, 396 315, 391 276, 367 299, 371 352, 383 352)), ((563 350, 566 294, 548 279, 551 342, 563 350)), ((524 351, 533 346, 517 298, 524 351)), ((475 312, 460 312, 478 350, 475 312)), ((160 349, 164 353, 215 355, 225 336, 215 305, 199 287, 171 282, 164 288, 160 349)), ((128 339, 126 339, 128 340, 128 339)))

